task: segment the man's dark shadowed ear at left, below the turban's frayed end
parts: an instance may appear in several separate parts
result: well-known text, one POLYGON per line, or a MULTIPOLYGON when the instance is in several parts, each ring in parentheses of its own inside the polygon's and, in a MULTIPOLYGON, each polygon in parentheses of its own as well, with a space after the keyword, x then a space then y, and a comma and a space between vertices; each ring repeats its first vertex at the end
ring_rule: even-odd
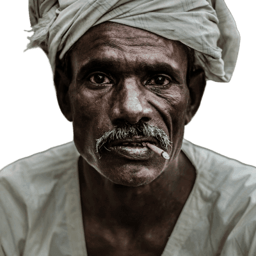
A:
POLYGON ((70 79, 68 79, 67 74, 65 74, 61 68, 56 67, 54 74, 54 85, 61 113, 68 120, 68 122, 72 122, 72 109, 68 94, 70 79))

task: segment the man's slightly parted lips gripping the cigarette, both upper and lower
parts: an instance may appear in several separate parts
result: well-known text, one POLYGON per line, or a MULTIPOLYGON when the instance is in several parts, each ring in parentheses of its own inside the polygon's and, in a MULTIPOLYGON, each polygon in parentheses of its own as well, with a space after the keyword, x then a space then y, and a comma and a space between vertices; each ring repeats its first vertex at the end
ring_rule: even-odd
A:
POLYGON ((153 156, 154 152, 144 144, 145 142, 153 145, 158 144, 155 138, 134 136, 132 138, 112 141, 106 147, 112 154, 119 157, 131 160, 147 160, 153 156))

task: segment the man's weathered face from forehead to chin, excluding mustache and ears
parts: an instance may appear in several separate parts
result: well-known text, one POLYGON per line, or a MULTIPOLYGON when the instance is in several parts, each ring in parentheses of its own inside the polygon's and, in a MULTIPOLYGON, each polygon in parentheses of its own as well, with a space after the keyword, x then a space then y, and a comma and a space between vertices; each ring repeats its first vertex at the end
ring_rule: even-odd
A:
POLYGON ((189 104, 184 45, 106 22, 79 39, 70 61, 74 142, 90 168, 125 186, 148 184, 171 170, 179 156, 189 104), (143 140, 160 148, 161 144, 140 132, 129 140, 106 141, 97 156, 97 140, 106 132, 141 123, 170 138, 170 160, 143 147, 143 140))

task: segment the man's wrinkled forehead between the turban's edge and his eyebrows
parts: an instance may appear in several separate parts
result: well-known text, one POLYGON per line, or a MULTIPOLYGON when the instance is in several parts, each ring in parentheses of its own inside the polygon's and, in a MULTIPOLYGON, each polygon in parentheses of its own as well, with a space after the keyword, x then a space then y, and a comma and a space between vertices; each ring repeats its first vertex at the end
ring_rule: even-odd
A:
POLYGON ((86 61, 104 59, 129 65, 167 63, 186 74, 188 54, 186 46, 175 40, 143 29, 115 22, 104 22, 89 29, 71 52, 73 72, 86 61))

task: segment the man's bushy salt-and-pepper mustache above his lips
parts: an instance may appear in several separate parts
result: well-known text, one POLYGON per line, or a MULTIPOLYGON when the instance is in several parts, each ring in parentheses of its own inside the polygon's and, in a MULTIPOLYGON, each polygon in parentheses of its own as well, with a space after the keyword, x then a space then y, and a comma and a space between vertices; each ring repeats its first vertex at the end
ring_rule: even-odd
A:
MULTIPOLYGON (((95 147, 97 156, 100 157, 100 152, 106 148, 105 146, 111 141, 131 138, 133 136, 154 137, 159 141, 164 150, 167 150, 168 146, 172 147, 172 141, 170 141, 169 137, 162 129, 145 122, 130 124, 125 121, 124 124, 115 126, 111 131, 105 132, 96 140, 95 147)), ((106 149, 108 150, 108 148, 106 149)))

